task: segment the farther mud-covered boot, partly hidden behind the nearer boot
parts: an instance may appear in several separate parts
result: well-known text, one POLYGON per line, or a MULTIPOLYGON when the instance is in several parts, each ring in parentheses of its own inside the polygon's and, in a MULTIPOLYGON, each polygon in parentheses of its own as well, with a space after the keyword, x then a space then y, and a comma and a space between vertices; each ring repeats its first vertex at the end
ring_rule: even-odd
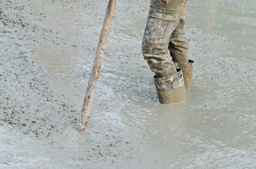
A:
POLYGON ((182 70, 185 88, 186 90, 189 90, 191 85, 194 61, 188 60, 188 63, 174 62, 174 65, 176 66, 176 69, 182 70))

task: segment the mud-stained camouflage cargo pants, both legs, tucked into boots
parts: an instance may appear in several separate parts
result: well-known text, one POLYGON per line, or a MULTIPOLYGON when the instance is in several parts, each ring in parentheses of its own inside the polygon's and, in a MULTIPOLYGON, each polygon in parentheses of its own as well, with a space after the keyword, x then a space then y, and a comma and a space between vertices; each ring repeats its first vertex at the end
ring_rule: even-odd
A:
POLYGON ((174 62, 188 62, 185 18, 188 0, 151 0, 142 55, 156 77, 177 73, 174 62))

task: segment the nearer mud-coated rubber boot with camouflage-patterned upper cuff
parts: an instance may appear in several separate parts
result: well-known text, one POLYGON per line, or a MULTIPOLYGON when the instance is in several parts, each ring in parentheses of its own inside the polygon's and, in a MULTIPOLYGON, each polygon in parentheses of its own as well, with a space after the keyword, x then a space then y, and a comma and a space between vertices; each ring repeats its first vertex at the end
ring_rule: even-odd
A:
POLYGON ((161 78, 154 76, 154 82, 159 103, 175 104, 187 101, 181 69, 177 69, 177 73, 171 76, 161 78))

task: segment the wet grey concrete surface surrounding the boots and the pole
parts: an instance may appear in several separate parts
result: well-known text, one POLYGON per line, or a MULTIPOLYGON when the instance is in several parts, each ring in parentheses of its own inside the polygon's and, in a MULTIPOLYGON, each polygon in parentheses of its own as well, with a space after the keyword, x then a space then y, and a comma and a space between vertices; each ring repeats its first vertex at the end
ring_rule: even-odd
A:
POLYGON ((107 1, 0 4, 0 168, 256 167, 255 1, 188 4, 194 74, 172 106, 141 54, 149 2, 117 1, 82 133, 107 1))

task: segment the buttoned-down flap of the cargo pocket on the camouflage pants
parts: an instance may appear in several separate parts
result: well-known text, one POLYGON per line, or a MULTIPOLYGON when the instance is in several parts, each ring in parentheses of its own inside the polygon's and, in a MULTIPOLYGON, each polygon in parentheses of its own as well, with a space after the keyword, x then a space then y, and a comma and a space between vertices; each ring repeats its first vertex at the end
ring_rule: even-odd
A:
POLYGON ((154 5, 150 5, 150 9, 148 12, 148 16, 163 19, 163 20, 169 20, 169 21, 176 21, 178 20, 178 11, 176 10, 170 10, 165 8, 160 8, 154 5))

